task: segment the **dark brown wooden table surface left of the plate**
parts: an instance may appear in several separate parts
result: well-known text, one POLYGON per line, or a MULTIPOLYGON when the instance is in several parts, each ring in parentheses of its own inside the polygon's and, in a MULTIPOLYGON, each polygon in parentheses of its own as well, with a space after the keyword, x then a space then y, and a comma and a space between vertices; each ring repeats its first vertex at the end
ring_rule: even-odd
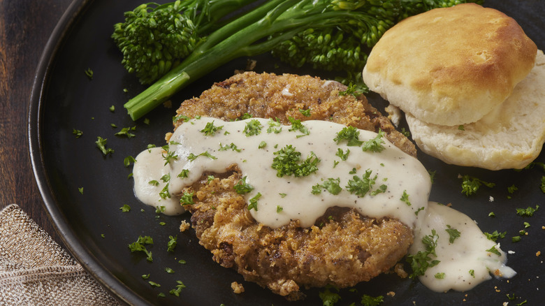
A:
POLYGON ((32 173, 29 96, 48 38, 71 0, 0 0, 0 209, 16 203, 63 245, 32 173))

